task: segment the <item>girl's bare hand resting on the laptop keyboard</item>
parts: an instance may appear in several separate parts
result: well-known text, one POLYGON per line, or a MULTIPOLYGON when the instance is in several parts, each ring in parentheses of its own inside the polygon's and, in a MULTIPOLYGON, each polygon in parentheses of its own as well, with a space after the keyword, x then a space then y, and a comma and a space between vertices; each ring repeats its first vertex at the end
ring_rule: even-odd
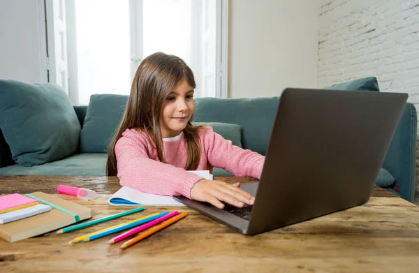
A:
POLYGON ((240 183, 228 184, 222 181, 200 180, 191 189, 193 200, 209 202, 210 204, 223 209, 227 202, 235 207, 243 207, 244 203, 253 205, 255 198, 246 191, 239 188, 240 183))

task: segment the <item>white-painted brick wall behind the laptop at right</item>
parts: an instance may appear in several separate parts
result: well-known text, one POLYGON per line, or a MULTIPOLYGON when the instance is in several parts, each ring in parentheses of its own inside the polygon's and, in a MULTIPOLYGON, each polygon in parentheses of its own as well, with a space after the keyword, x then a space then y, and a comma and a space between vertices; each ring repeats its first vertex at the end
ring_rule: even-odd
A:
POLYGON ((369 76, 419 110, 419 0, 321 0, 318 87, 369 76))

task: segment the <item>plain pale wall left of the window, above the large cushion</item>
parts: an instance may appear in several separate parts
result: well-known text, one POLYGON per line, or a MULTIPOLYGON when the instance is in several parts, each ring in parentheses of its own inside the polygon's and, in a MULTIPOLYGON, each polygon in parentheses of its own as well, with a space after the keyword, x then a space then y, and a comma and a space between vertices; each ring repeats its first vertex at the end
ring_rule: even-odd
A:
MULTIPOLYGON (((39 2, 0 0, 0 78, 42 82, 39 2)), ((43 80, 45 78, 45 80, 43 80)))

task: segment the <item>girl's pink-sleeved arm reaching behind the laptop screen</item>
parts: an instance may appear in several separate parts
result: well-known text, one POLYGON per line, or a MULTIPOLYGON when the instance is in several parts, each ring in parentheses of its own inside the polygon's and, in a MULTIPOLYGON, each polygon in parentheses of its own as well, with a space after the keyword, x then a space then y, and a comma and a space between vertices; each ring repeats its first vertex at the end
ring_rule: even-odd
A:
POLYGON ((250 176, 260 179, 265 156, 234 146, 230 140, 214 133, 211 127, 205 130, 204 145, 211 165, 223 168, 237 177, 250 176))

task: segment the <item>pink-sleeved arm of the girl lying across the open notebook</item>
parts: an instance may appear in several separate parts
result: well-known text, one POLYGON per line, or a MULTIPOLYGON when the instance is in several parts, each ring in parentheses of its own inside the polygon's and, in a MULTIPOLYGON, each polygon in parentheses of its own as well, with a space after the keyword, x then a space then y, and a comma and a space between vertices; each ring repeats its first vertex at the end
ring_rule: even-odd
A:
POLYGON ((115 154, 119 183, 146 193, 191 198, 191 188, 203 179, 183 168, 150 159, 146 145, 135 135, 119 138, 115 154))

